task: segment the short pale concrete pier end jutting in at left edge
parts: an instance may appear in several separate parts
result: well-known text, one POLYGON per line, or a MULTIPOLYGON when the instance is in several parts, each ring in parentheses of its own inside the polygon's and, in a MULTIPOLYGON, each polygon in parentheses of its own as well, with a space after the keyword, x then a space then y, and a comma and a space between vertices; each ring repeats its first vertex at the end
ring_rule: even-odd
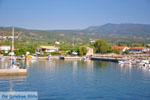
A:
POLYGON ((0 69, 0 76, 27 75, 27 69, 0 69))

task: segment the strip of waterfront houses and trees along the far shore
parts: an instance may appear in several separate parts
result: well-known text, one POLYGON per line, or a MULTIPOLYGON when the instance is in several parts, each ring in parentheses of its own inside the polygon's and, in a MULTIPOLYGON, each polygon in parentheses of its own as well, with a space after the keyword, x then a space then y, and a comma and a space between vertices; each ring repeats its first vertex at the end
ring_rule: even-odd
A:
MULTIPOLYGON (((92 56, 94 54, 118 54, 118 55, 129 55, 129 54, 150 54, 150 48, 144 46, 108 46, 103 43, 104 40, 92 41, 90 44, 78 46, 78 48, 61 48, 59 45, 63 45, 56 41, 55 45, 40 45, 33 48, 33 52, 25 51, 25 49, 18 47, 15 48, 14 52, 16 56, 24 55, 36 55, 36 56, 47 56, 50 55, 61 55, 61 56, 92 56), (98 45, 96 45, 99 43, 98 45)), ((11 45, 0 45, 0 53, 2 56, 11 56, 11 45)))

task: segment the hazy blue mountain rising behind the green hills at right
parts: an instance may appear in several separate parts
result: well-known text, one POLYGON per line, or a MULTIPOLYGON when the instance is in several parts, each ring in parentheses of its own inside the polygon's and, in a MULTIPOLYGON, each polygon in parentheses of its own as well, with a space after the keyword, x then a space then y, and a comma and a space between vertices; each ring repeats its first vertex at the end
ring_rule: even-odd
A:
POLYGON ((129 36, 150 37, 150 25, 147 24, 105 24, 102 26, 91 26, 87 30, 99 34, 116 34, 129 36))

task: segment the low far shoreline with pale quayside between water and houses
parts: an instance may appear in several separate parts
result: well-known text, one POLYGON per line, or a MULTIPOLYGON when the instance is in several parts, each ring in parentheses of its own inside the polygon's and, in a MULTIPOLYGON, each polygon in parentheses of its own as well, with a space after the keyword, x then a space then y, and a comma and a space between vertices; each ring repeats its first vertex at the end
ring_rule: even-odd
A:
MULTIPOLYGON (((11 60, 11 56, 1 56, 1 61, 4 60, 11 60)), ((147 54, 129 54, 129 55, 117 55, 117 54, 94 54, 91 57, 88 56, 50 56, 49 59, 47 56, 45 57, 31 57, 31 58, 25 58, 16 56, 16 60, 50 60, 50 59, 62 59, 62 60, 82 60, 82 58, 89 59, 89 60, 101 60, 101 61, 112 61, 112 62, 118 62, 119 60, 122 60, 123 58, 136 58, 136 59, 147 59, 150 58, 150 55, 147 54)))

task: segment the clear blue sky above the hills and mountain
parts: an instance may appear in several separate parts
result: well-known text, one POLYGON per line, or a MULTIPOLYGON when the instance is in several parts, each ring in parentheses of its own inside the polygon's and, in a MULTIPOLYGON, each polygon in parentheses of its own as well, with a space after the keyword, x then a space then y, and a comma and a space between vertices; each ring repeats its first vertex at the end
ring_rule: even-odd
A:
POLYGON ((84 29, 106 23, 150 24, 150 0, 0 0, 0 26, 84 29))

